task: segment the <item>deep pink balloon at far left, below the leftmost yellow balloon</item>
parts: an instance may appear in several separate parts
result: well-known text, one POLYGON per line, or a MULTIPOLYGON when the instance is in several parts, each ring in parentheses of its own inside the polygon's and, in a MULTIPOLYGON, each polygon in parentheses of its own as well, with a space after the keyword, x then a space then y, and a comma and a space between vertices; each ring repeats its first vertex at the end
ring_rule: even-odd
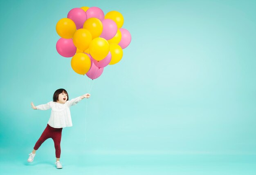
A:
POLYGON ((72 57, 76 54, 76 47, 72 39, 60 38, 56 43, 56 50, 63 57, 72 57))

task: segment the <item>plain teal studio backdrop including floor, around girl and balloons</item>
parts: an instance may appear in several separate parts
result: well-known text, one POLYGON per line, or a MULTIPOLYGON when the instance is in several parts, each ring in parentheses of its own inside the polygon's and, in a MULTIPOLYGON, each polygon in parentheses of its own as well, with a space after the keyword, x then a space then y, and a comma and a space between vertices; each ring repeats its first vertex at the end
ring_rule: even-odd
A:
POLYGON ((256 1, 0 2, 1 175, 256 173, 256 1), (132 35, 93 86, 56 51, 56 23, 83 6, 121 12, 132 35), (30 102, 59 88, 91 97, 70 109, 57 170, 51 139, 27 158, 51 112, 30 102))

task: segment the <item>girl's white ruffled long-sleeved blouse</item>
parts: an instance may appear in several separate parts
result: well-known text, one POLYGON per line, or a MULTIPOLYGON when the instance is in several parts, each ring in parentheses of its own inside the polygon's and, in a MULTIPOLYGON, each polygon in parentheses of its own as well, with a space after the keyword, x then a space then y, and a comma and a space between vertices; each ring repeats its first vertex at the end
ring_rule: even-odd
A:
POLYGON ((64 104, 51 101, 47 104, 40 104, 36 106, 36 108, 39 110, 47 110, 52 108, 48 124, 53 128, 70 127, 72 126, 70 106, 77 104, 80 102, 80 100, 80 97, 76 97, 72 100, 67 100, 64 104))

